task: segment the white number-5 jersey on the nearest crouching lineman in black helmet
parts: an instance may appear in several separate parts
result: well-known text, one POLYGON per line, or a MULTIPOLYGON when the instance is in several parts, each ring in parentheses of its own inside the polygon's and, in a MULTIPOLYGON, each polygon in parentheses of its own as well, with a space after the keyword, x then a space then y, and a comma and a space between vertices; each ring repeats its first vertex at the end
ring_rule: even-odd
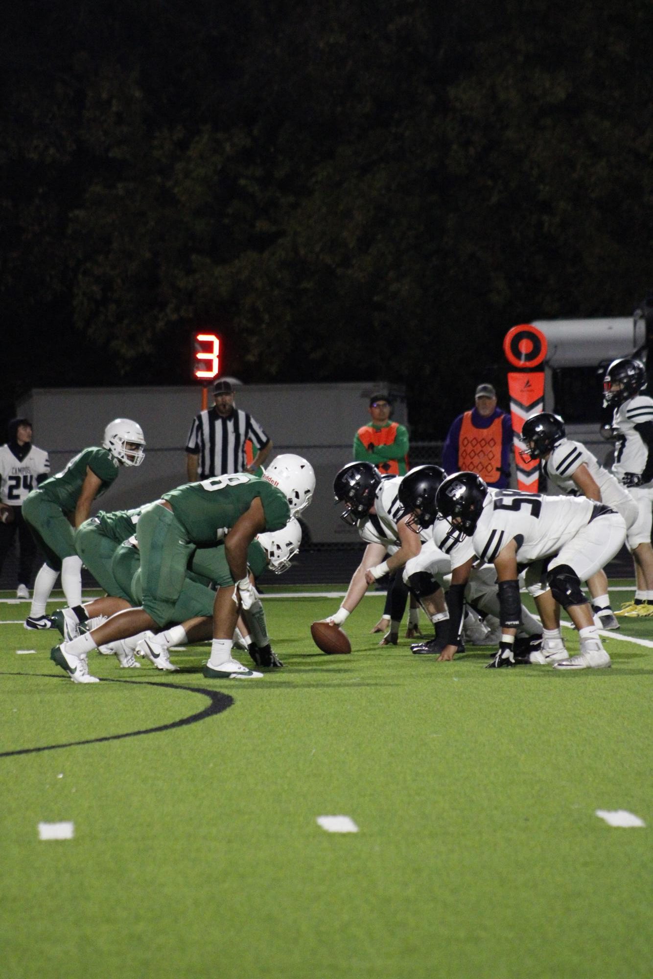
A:
POLYGON ((510 540, 517 542, 517 563, 550 557, 589 523, 594 500, 586 496, 541 496, 498 489, 490 496, 472 543, 483 561, 494 561, 510 540))

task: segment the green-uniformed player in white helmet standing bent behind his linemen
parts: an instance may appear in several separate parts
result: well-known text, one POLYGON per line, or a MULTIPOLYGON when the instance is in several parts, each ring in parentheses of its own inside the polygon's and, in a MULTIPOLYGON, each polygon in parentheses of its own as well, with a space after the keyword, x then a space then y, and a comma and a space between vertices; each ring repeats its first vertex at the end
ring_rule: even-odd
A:
POLYGON ((145 439, 140 425, 117 418, 105 429, 102 446, 84 448, 61 473, 33 489, 23 503, 23 517, 45 554, 32 596, 25 629, 49 629, 45 605, 61 572, 71 608, 81 606, 81 559, 74 529, 88 520, 93 500, 112 485, 120 466, 140 466, 145 439))

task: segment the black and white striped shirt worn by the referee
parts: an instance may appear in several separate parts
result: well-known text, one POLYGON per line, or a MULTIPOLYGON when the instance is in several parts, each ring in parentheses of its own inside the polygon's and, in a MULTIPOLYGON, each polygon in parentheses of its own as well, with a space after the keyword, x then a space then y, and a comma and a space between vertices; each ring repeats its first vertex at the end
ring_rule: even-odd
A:
POLYGON ((252 440, 257 449, 270 440, 257 420, 247 411, 237 408, 228 417, 218 415, 215 408, 196 415, 188 433, 186 451, 199 455, 198 476, 206 480, 210 476, 240 473, 246 468, 245 443, 252 440))

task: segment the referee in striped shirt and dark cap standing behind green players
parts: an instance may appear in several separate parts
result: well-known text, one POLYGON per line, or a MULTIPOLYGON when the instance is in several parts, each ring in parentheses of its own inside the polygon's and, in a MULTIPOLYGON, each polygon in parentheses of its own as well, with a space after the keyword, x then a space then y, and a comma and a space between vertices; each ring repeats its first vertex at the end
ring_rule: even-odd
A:
POLYGON ((186 472, 189 483, 227 473, 256 473, 269 455, 272 443, 257 420, 234 407, 234 390, 229 381, 213 385, 214 407, 196 415, 186 443, 186 472), (246 443, 257 446, 249 463, 246 443))

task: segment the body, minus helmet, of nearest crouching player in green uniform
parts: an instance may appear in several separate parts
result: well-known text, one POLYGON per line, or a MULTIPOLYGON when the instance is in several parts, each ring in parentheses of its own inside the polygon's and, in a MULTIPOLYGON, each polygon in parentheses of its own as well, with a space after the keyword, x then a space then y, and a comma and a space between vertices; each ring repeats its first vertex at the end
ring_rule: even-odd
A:
POLYGON ((285 527, 290 515, 284 492, 249 473, 214 477, 164 493, 161 500, 143 508, 136 526, 142 607, 118 612, 97 629, 55 646, 51 658, 73 681, 95 681, 88 675, 88 651, 172 622, 193 552, 224 539, 235 586, 220 588, 215 595, 213 639, 204 675, 262 676, 232 659, 232 637, 240 608, 251 608, 257 599, 247 572, 248 547, 257 534, 285 527))

